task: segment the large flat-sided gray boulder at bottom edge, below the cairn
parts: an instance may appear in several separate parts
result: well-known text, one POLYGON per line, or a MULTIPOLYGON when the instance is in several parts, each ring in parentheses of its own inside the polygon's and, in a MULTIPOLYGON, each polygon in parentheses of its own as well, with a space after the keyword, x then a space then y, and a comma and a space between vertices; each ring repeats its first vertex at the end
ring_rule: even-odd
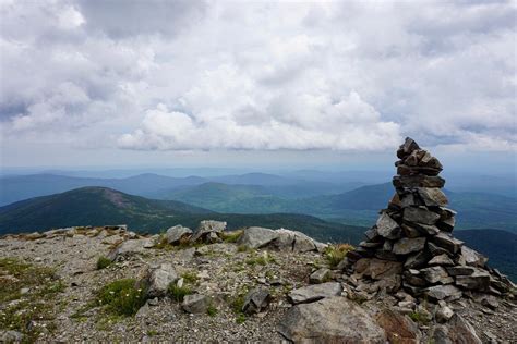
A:
POLYGON ((278 332, 294 343, 384 344, 386 336, 356 303, 330 297, 289 309, 278 332))

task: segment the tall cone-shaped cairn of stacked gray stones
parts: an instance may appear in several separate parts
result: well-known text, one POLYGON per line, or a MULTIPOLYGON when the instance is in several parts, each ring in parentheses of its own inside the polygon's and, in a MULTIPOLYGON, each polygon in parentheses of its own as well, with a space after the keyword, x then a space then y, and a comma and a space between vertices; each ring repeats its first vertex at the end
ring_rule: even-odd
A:
POLYGON ((435 302, 508 295, 512 282, 453 236, 456 212, 446 207, 438 159, 409 137, 397 157, 394 197, 365 241, 348 254, 352 277, 366 282, 368 292, 402 288, 435 302))

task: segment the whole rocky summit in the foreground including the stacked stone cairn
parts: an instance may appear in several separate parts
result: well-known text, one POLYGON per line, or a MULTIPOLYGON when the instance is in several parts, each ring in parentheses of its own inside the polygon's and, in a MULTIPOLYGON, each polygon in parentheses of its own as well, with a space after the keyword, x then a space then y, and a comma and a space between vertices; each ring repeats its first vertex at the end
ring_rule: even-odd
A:
POLYGON ((517 342, 516 287, 452 235, 442 164, 410 138, 397 156, 396 194, 357 248, 214 219, 5 235, 0 342, 517 342))

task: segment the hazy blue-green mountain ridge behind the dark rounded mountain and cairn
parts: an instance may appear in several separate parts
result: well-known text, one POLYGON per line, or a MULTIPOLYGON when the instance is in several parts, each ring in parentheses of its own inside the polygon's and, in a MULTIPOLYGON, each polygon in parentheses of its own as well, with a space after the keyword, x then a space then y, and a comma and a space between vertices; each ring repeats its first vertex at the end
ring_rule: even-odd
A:
MULTIPOLYGON (((215 211, 308 213, 335 222, 369 226, 394 193, 392 183, 384 183, 337 195, 289 199, 258 185, 205 183, 161 196, 215 211)), ((483 193, 445 193, 449 207, 458 211, 458 229, 495 228, 517 233, 517 199, 483 193)))

